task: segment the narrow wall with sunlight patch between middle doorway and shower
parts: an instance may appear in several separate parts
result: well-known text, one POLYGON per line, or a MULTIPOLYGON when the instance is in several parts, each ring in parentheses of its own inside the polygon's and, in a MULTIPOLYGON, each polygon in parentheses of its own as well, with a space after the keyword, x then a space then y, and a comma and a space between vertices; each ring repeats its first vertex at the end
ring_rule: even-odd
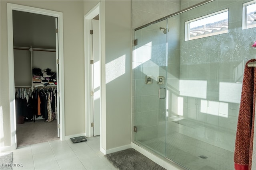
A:
MULTIPOLYGON (((84 14, 98 2, 84 1, 84 14)), ((102 113, 106 134, 102 134, 102 147, 109 152, 131 144, 131 1, 102 1, 101 7, 106 35, 106 113, 102 113)))

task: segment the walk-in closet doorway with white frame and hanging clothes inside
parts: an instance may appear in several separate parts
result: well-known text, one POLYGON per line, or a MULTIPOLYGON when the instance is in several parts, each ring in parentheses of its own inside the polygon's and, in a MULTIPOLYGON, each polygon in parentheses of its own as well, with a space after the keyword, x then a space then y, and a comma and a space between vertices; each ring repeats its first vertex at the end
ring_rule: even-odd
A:
POLYGON ((12 148, 64 139, 62 13, 8 4, 12 148))

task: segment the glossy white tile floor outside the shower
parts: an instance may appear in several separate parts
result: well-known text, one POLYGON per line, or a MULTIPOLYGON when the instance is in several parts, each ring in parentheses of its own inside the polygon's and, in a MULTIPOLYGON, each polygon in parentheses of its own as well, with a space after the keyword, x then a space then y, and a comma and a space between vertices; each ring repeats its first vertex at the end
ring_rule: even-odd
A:
POLYGON ((116 169, 100 152, 99 137, 86 142, 49 141, 13 151, 13 163, 23 167, 14 170, 114 170, 116 169))

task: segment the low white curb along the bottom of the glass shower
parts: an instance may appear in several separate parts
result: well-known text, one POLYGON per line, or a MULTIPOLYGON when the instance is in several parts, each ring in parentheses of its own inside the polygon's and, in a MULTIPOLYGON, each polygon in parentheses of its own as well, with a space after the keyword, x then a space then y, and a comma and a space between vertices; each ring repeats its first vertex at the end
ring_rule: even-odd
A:
POLYGON ((164 158, 160 158, 154 154, 152 154, 151 152, 149 152, 146 149, 143 149, 142 147, 140 147, 139 145, 136 145, 135 143, 132 142, 132 148, 137 150, 138 152, 140 152, 141 154, 143 154, 144 156, 148 157, 149 159, 151 159, 152 161, 154 161, 156 164, 162 166, 163 168, 167 169, 167 170, 184 170, 184 168, 164 159, 164 158))

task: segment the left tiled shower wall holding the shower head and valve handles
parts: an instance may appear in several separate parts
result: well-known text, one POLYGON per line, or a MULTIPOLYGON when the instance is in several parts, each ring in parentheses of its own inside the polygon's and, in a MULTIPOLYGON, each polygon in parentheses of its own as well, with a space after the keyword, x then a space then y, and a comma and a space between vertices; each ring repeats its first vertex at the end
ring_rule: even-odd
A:
MULTIPOLYGON (((144 24, 155 21, 159 18, 173 14, 181 9, 187 8, 194 4, 202 2, 202 0, 134 0, 132 1, 132 28, 133 39, 135 37, 134 29, 144 24)), ((179 94, 179 67, 180 67, 180 17, 174 17, 168 20, 168 70, 167 70, 167 84, 168 84, 168 114, 169 116, 177 115, 178 111, 178 94, 179 94), (178 26, 178 27, 177 27, 178 26)), ((152 137, 161 137, 165 135, 165 109, 159 109, 165 107, 163 101, 158 102, 157 90, 158 86, 156 81, 152 85, 145 84, 146 75, 156 76, 165 74, 166 65, 166 49, 161 47, 153 47, 146 42, 147 38, 151 38, 152 42, 158 41, 159 43, 166 43, 166 37, 160 31, 160 27, 166 28, 166 23, 160 22, 154 26, 148 27, 147 31, 142 33, 141 30, 136 31, 136 38, 138 39, 138 46, 148 48, 145 51, 151 52, 154 55, 158 55, 157 58, 148 60, 147 57, 152 54, 143 54, 144 58, 138 59, 133 57, 133 81, 132 81, 132 126, 138 126, 138 133, 136 136, 132 135, 133 140, 148 140, 152 137), (158 34, 158 35, 157 35, 158 34), (142 42, 143 41, 143 42, 142 42), (143 44, 144 43, 144 44, 143 44), (146 61, 145 61, 146 60, 146 61), (154 61, 153 61, 154 60, 154 61), (162 65, 162 68, 158 68, 157 64, 162 65), (151 65, 151 66, 150 66, 151 65), (155 68, 154 68, 155 66, 155 68), (156 70, 158 69, 158 70, 156 70), (162 72, 161 72, 162 70, 162 72), (136 88, 137 94, 134 90, 136 88), (149 107, 150 106, 150 107, 149 107), (161 107, 162 106, 162 107, 161 107), (135 112, 136 120, 135 120, 135 112), (142 132, 143 131, 143 132, 142 132)), ((151 42, 151 41, 150 41, 151 42)), ((133 46, 133 50, 135 46, 133 46)), ((138 51, 137 51, 138 52, 138 51)), ((135 54, 133 55, 135 56, 135 54)), ((138 56, 138 54, 137 54, 138 56)))

